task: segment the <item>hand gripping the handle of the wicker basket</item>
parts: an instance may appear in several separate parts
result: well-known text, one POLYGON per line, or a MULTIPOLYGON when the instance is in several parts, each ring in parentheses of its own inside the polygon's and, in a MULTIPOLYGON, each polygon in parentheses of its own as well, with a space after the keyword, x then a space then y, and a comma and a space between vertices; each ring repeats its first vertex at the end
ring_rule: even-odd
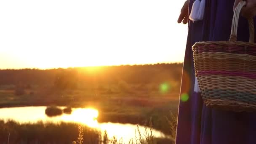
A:
MULTIPOLYGON (((237 4, 241 1, 243 0, 235 0, 233 11, 235 10, 237 4)), ((242 8, 241 13, 242 16, 246 18, 256 16, 256 0, 246 0, 246 6, 242 8)))

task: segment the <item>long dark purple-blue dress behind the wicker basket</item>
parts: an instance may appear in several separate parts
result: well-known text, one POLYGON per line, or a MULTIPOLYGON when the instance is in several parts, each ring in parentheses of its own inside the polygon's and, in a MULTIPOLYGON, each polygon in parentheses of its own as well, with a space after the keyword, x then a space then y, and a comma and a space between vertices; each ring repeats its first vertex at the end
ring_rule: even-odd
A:
MULTIPOLYGON (((193 2, 189 2, 189 13, 193 2)), ((256 144, 255 112, 211 109, 203 104, 200 92, 194 91, 192 45, 199 41, 228 41, 233 4, 234 0, 206 0, 204 19, 189 21, 176 144, 256 144)), ((237 40, 249 40, 248 22, 242 16, 238 24, 237 40)))

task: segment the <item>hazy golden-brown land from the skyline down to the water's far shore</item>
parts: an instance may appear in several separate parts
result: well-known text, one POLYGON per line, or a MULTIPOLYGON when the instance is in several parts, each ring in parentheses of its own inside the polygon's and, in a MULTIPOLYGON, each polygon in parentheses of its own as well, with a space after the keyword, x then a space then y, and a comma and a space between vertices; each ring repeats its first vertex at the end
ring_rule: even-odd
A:
POLYGON ((144 124, 152 117, 154 128, 171 134, 167 118, 178 110, 181 69, 155 64, 0 70, 0 107, 93 107, 99 122, 144 124))

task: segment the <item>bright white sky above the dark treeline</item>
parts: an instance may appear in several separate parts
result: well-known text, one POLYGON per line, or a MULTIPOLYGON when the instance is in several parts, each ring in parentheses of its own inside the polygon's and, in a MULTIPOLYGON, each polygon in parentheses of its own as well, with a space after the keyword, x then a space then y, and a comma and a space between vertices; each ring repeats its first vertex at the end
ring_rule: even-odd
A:
POLYGON ((182 62, 185 0, 1 0, 0 69, 182 62))

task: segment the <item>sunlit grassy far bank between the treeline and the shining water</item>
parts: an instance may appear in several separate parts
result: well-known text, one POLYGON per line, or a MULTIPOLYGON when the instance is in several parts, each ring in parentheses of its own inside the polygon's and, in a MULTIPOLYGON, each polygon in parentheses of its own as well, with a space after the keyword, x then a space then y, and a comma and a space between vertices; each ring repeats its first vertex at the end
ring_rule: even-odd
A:
MULTIPOLYGON (((130 86, 132 87, 132 86, 130 86)), ((113 90, 114 91, 114 90, 113 90)), ((112 91, 112 92, 113 92, 112 91)), ((134 89, 132 93, 120 91, 106 93, 104 89, 53 91, 50 88, 25 89, 17 96, 14 90, 0 90, 0 107, 64 106, 92 107, 99 111, 98 121, 144 124, 152 117, 154 128, 170 134, 166 117, 178 110, 178 93, 160 93, 152 89, 134 89), (31 94, 31 91, 33 93, 31 94)))

